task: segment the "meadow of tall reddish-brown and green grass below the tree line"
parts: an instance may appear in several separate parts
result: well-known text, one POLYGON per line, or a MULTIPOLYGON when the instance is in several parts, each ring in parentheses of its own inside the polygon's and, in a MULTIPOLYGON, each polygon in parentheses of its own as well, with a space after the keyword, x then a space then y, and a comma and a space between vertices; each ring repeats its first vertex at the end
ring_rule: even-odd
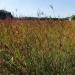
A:
POLYGON ((75 75, 75 21, 0 20, 0 75, 75 75))

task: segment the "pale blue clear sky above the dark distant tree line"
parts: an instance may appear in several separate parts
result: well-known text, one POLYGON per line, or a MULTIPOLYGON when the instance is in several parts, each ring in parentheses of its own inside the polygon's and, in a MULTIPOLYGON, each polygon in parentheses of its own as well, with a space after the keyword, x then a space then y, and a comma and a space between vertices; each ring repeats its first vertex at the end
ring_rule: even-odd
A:
POLYGON ((75 14, 75 0, 0 0, 0 9, 11 11, 15 16, 37 16, 37 11, 44 12, 44 16, 66 17, 75 14), (16 11, 17 9, 17 11, 16 11))

